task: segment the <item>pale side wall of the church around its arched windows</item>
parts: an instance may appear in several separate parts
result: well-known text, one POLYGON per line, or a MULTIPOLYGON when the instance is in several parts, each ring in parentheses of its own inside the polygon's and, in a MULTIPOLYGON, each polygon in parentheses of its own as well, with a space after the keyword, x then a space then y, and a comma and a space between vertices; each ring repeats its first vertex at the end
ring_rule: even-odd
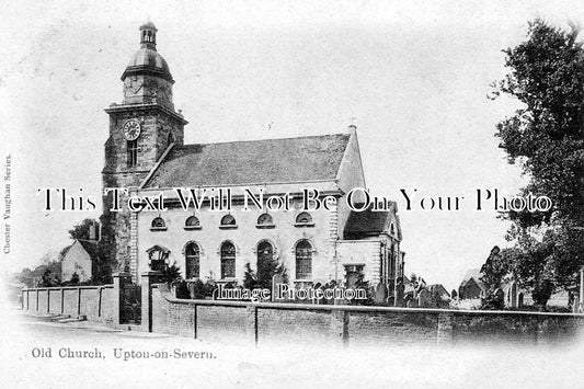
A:
MULTIPOLYGON (((257 217, 262 214, 259 210, 243 211, 241 205, 234 205, 230 213, 237 220, 237 229, 220 229, 220 219, 227 214, 220 211, 209 211, 204 208, 196 213, 202 229, 187 231, 184 222, 192 211, 184 211, 182 208, 171 208, 160 216, 167 224, 165 231, 151 231, 150 226, 157 213, 138 214, 138 264, 137 273, 141 274, 148 270, 148 258, 146 250, 154 244, 168 248, 171 251, 170 262, 176 262, 181 271, 185 271, 184 248, 193 241, 201 248, 201 278, 220 276, 220 247, 229 240, 234 243, 236 255, 236 277, 241 281, 244 274, 244 266, 249 262, 252 268, 256 264, 256 247, 263 241, 270 241, 275 248, 275 255, 284 261, 290 281, 295 279, 295 245, 301 239, 311 242, 312 252, 312 278, 328 282, 334 276, 333 252, 336 243, 336 214, 334 211, 318 210, 311 211, 314 227, 295 226, 296 216, 299 210, 273 211, 271 216, 274 220, 274 228, 256 228, 257 217)), ((340 272, 340 274, 342 274, 340 272)))

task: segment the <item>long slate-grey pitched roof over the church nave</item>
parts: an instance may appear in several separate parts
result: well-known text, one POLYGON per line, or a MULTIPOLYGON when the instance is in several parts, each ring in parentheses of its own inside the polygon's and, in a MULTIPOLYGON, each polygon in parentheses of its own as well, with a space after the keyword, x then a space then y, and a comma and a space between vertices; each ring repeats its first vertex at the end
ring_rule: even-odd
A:
POLYGON ((174 146, 145 187, 333 180, 348 134, 174 146))

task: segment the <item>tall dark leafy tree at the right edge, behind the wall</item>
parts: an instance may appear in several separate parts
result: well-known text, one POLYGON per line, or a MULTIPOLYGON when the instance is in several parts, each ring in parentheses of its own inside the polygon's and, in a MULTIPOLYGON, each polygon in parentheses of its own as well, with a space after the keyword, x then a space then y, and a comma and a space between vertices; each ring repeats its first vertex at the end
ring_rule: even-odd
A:
POLYGON ((529 178, 520 195, 552 202, 549 210, 505 215, 513 221, 512 271, 528 287, 569 286, 584 265, 584 50, 577 35, 574 26, 529 23, 527 41, 504 50, 509 71, 496 84, 495 96, 522 103, 496 127, 508 162, 529 178))

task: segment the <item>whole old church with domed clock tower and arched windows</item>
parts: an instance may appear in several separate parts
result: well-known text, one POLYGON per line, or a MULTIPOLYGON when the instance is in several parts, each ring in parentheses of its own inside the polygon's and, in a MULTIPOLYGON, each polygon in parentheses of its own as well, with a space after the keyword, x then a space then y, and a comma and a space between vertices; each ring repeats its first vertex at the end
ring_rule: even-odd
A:
MULTIPOLYGON (((352 210, 345 201, 365 187, 356 127, 334 135, 284 139, 184 144, 187 121, 172 102, 174 79, 157 52, 157 28, 140 26, 140 49, 124 73, 124 100, 112 104, 105 142, 103 186, 129 188, 128 196, 164 195, 164 211, 111 211, 104 195, 104 221, 112 255, 140 283, 154 262, 176 263, 185 279, 241 285, 245 265, 275 259, 294 286, 335 279, 354 284, 359 274, 370 285, 393 290, 403 276, 400 221, 389 209, 352 210), (243 209, 243 188, 264 198, 289 194, 288 210, 243 209), (175 188, 229 188, 230 210, 205 203, 183 209, 175 188), (332 210, 305 210, 302 190, 334 196, 332 210)), ((188 130, 188 128, 187 128, 188 130)), ((193 129, 195 130, 195 129, 193 129)), ((196 134, 195 134, 196 139, 196 134)), ((125 197, 124 197, 125 198, 125 197)))

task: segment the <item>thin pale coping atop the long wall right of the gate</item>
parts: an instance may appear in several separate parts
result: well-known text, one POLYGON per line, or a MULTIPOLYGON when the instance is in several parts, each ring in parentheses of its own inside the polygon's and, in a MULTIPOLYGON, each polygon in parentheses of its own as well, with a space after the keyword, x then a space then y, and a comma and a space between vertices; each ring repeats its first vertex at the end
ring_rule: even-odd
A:
POLYGON ((290 302, 251 302, 236 300, 194 300, 182 299, 172 296, 167 284, 154 284, 152 288, 160 290, 162 297, 173 304, 193 306, 222 306, 222 307, 245 307, 266 309, 299 309, 299 310, 329 310, 329 311, 367 311, 367 312, 400 312, 400 313, 436 313, 436 314, 486 314, 486 316, 536 316, 536 317, 560 317, 576 318, 584 320, 584 313, 561 313, 561 312, 528 312, 528 311, 501 311, 501 310, 458 310, 438 308, 401 308, 401 307, 370 307, 370 306, 333 306, 312 304, 290 304, 290 302))

